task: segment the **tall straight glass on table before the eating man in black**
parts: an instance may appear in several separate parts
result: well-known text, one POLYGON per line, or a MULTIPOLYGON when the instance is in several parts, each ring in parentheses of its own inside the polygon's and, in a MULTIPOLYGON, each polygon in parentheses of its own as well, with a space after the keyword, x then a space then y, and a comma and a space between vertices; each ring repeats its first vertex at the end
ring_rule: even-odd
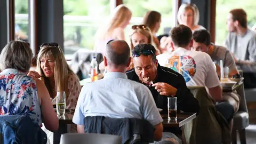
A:
POLYGON ((177 97, 168 97, 168 120, 177 121, 177 97))

